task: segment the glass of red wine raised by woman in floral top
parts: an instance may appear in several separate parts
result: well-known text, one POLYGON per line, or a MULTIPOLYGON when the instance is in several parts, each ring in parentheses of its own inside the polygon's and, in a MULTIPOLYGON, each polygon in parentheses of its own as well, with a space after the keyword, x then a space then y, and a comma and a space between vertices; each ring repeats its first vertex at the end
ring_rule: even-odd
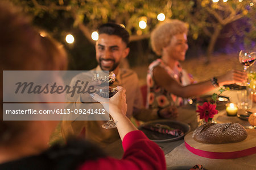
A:
MULTIPOLYGON (((248 51, 248 50, 241 50, 239 53, 239 61, 243 65, 243 71, 246 72, 247 69, 254 64, 256 59, 256 52, 255 51, 248 51)), ((242 86, 247 86, 247 82, 243 82, 242 86)))

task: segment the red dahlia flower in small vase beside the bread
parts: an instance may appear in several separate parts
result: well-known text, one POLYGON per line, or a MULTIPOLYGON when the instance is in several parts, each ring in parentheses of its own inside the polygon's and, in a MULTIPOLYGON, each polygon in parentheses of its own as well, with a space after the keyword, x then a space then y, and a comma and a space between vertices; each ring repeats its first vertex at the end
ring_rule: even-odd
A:
POLYGON ((210 102, 204 102, 203 106, 198 106, 196 112, 199 113, 200 119, 204 119, 205 122, 208 122, 208 119, 212 120, 214 115, 218 113, 218 110, 216 110, 216 105, 212 105, 210 102))

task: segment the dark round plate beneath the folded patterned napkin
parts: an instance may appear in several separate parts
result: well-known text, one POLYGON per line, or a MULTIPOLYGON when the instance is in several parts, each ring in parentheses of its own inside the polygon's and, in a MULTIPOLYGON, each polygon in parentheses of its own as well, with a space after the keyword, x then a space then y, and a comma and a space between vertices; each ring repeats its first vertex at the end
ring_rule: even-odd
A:
POLYGON ((168 125, 171 128, 178 128, 184 132, 184 135, 190 131, 190 126, 187 123, 171 121, 171 120, 156 120, 151 122, 146 122, 143 125, 139 126, 139 130, 143 131, 144 134, 148 137, 148 139, 154 142, 168 142, 179 140, 184 137, 184 135, 176 137, 168 134, 162 134, 156 131, 151 131, 146 128, 143 128, 144 125, 155 125, 156 123, 160 123, 162 125, 168 125))

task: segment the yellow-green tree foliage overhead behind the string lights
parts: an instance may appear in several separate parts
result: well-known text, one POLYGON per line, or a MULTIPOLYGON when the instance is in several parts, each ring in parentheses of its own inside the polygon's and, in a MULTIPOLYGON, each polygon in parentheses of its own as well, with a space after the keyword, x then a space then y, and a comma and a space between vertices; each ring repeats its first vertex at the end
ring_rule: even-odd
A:
MULTIPOLYGON (((131 34, 131 40, 149 38, 150 32, 160 23, 156 16, 164 13, 166 19, 180 19, 188 23, 189 36, 196 41, 209 38, 213 50, 218 30, 241 18, 248 18, 248 27, 237 24, 237 34, 245 36, 245 44, 256 39, 255 6, 243 0, 213 3, 212 0, 10 0, 31 14, 35 23, 47 30, 55 38, 72 29, 79 29, 90 43, 92 31, 106 22, 124 24, 131 34), (139 28, 139 20, 147 22, 146 29, 139 28), (51 22, 51 23, 50 23, 51 22)), ((220 31, 221 32, 221 31, 220 31)), ((228 33, 227 33, 228 34, 228 33)), ((202 46, 204 40, 198 41, 202 46)), ((192 43, 195 44, 195 43, 192 43)))

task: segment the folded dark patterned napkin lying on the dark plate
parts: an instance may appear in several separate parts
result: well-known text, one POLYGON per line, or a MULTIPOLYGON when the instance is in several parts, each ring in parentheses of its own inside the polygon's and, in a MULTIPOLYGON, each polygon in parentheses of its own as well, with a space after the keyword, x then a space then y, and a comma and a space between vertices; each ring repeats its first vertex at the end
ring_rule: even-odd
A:
POLYGON ((154 125, 145 125, 143 126, 143 128, 146 128, 151 131, 157 131, 161 134, 169 134, 176 137, 184 135, 184 132, 181 131, 180 129, 171 128, 168 125, 162 125, 160 123, 156 123, 154 125))

